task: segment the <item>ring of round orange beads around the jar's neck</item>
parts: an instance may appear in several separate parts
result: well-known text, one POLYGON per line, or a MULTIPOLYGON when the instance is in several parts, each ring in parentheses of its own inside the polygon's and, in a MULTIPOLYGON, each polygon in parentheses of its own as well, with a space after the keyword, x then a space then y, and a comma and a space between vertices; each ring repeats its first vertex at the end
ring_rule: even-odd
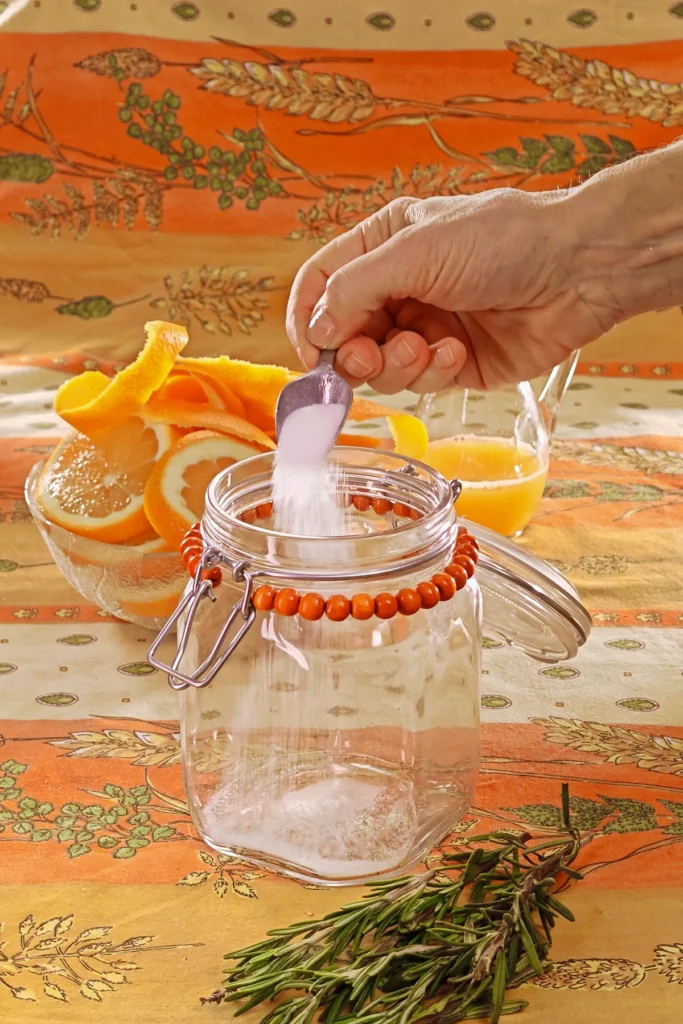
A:
MULTIPOLYGON (((394 505, 383 498, 370 499, 367 495, 355 495, 351 503, 364 512, 372 506, 378 515, 393 512, 401 518, 420 518, 420 513, 415 509, 399 503, 394 505)), ((267 518, 271 513, 272 503, 266 502, 245 512, 241 518, 245 522, 254 522, 257 518, 267 518)), ((203 551, 204 541, 200 524, 195 523, 180 545, 183 565, 191 577, 197 574, 203 551)), ((414 615, 420 608, 433 608, 439 601, 450 601, 457 591, 466 587, 467 581, 474 575, 478 557, 479 545, 476 539, 461 526, 451 563, 443 572, 437 572, 431 580, 419 583, 415 588, 404 587, 397 594, 383 593, 377 597, 371 597, 370 594, 354 594, 348 598, 342 594, 334 594, 326 600, 322 594, 299 595, 291 587, 278 590, 275 587, 263 584, 254 591, 252 603, 257 611, 276 611, 278 614, 286 616, 298 614, 309 622, 316 622, 323 615, 333 623, 342 623, 349 615, 358 620, 372 618, 373 615, 378 618, 393 618, 397 613, 414 615)), ((219 566, 204 569, 202 579, 210 580, 212 585, 217 587, 222 579, 219 566)))

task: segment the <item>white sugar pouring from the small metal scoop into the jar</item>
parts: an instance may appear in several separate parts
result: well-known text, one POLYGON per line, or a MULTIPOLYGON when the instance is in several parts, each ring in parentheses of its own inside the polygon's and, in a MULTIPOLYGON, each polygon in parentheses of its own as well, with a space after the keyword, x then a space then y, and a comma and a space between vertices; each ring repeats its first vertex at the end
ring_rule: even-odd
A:
POLYGON ((343 406, 304 406, 291 413, 280 433, 272 471, 274 526, 299 537, 341 537, 339 474, 328 463, 344 419, 343 406))

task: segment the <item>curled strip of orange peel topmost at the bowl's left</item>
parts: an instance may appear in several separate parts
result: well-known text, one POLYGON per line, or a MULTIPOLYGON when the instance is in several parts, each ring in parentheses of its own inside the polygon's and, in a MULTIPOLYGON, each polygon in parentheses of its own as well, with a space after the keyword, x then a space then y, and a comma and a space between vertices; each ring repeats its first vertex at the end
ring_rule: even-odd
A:
POLYGON ((62 384, 54 411, 75 430, 94 436, 138 413, 173 368, 187 344, 187 332, 175 324, 151 321, 144 325, 147 340, 134 362, 110 380, 87 372, 62 384))

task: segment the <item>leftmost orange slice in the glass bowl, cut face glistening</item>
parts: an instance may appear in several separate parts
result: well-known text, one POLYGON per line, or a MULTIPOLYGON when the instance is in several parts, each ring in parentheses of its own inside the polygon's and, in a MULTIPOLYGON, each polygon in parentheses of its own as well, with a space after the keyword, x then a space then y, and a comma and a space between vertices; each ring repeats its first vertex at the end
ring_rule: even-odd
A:
POLYGON ((97 438, 67 437, 45 463, 36 499, 46 519, 79 537, 125 544, 148 530, 144 485, 176 432, 132 416, 97 438))

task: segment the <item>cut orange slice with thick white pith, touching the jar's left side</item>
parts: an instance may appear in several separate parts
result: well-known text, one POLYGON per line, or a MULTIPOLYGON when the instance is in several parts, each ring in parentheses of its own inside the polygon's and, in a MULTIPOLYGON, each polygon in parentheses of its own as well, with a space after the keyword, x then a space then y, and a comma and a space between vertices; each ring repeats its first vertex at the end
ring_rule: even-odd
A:
POLYGON ((204 515, 204 496, 214 476, 262 451, 212 430, 197 430, 176 441, 144 488, 144 511, 159 536, 178 550, 187 529, 204 515))

